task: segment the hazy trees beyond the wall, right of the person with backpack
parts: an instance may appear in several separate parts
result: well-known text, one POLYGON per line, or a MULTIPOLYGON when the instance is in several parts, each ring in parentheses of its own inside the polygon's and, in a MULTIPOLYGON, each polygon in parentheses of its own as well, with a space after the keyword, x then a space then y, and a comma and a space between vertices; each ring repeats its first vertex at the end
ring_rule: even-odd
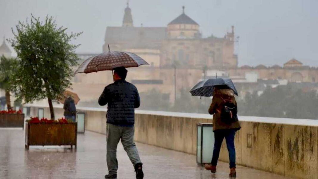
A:
POLYGON ((317 92, 292 85, 268 87, 261 95, 247 93, 238 104, 239 114, 245 116, 318 119, 317 92))

